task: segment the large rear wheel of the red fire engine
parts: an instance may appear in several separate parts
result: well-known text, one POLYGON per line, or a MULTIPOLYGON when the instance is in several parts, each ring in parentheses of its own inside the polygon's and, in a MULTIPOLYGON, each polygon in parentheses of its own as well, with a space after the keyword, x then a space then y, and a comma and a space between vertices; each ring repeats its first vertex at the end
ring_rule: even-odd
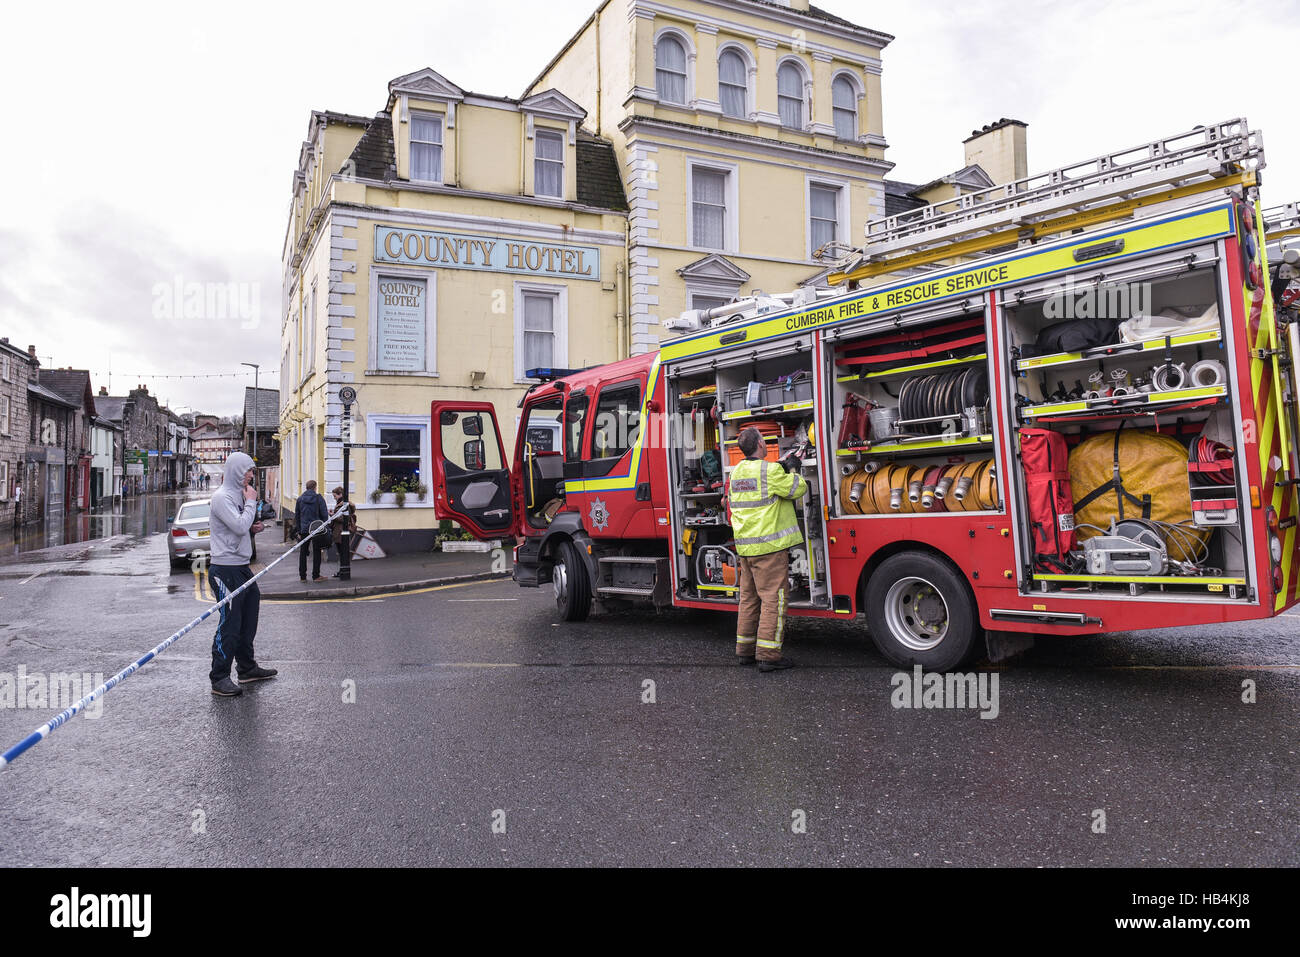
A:
POLYGON ((979 619, 953 568, 923 551, 885 559, 863 597, 867 628, 894 664, 949 671, 979 649, 979 619))

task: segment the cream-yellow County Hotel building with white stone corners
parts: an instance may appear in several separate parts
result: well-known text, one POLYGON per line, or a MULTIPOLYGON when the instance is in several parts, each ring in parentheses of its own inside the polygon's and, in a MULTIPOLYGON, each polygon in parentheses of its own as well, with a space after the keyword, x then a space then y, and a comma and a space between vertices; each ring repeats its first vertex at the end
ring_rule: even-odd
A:
POLYGON ((312 113, 283 246, 282 505, 341 484, 325 439, 351 385, 354 441, 387 445, 352 454, 359 521, 428 547, 430 400, 494 403, 511 455, 528 369, 818 281, 814 254, 885 212, 890 39, 806 0, 607 0, 519 99, 422 69, 373 117, 312 113))

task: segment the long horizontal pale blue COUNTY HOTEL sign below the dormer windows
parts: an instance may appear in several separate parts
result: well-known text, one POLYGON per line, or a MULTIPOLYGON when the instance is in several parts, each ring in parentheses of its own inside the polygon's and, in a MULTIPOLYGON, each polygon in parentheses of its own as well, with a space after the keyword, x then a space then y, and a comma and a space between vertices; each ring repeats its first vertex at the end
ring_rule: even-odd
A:
POLYGON ((515 242, 393 226, 374 228, 374 261, 569 280, 601 278, 601 251, 595 246, 515 242))

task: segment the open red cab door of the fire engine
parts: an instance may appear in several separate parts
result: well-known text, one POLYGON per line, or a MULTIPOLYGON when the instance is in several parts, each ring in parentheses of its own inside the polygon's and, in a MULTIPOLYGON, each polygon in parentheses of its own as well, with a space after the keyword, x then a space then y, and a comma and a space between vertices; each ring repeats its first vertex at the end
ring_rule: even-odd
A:
POLYGON ((515 532, 510 468, 490 402, 434 402, 433 508, 480 540, 515 532))

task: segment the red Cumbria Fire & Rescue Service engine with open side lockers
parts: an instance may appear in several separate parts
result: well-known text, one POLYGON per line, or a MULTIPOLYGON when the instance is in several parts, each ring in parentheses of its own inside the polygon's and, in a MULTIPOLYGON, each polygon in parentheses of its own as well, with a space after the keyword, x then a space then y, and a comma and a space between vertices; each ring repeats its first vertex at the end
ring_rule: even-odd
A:
POLYGON ((1261 209, 1262 166, 1231 120, 872 221, 831 289, 536 371, 512 462, 490 403, 433 402, 437 514, 512 536, 515 580, 564 620, 734 609, 727 476, 753 425, 810 485, 789 614, 861 615, 896 663, 1280 614, 1300 230, 1261 209))

